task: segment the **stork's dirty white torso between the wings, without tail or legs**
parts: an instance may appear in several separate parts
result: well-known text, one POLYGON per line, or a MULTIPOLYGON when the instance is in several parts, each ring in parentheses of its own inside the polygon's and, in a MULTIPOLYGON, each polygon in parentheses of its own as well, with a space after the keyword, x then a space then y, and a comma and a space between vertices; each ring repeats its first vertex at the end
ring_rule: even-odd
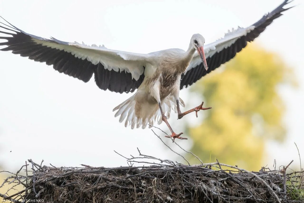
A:
MULTIPOLYGON (((155 64, 145 69, 145 79, 136 93, 139 98, 136 109, 140 109, 139 103, 141 102, 140 98, 142 98, 142 96, 139 96, 140 94, 150 104, 158 105, 168 97, 177 101, 179 99, 181 74, 188 68, 194 53, 194 48, 187 52, 182 49, 167 49, 150 53, 155 64)), ((140 112, 136 113, 140 115, 140 112)))

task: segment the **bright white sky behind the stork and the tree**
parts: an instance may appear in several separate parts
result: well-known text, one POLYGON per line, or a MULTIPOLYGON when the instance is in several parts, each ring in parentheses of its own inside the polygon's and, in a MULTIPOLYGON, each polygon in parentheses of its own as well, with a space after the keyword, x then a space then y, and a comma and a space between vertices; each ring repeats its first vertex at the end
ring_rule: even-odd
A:
MULTIPOLYGON (((251 25, 282 2, 19 0, 1 1, 0 15, 37 36, 149 53, 187 49, 195 33, 202 34, 208 44, 232 27, 251 25)), ((284 144, 268 143, 264 165, 272 166, 273 159, 277 165, 287 165, 294 159, 296 166, 299 161, 293 142, 304 155, 304 6, 300 3, 292 2, 298 6, 285 12, 254 41, 280 54, 299 81, 297 89, 278 87, 286 104, 287 137, 284 144)), ((0 164, 7 170, 19 169, 29 158, 36 162, 44 159, 44 164, 55 166, 126 165, 113 150, 126 156, 137 155, 136 147, 148 155, 176 158, 151 130, 131 130, 114 118, 112 109, 133 93, 102 91, 93 79, 85 84, 45 63, 10 52, 0 52, 0 93, 0 164)), ((187 94, 187 89, 181 91, 187 108, 200 104, 200 99, 190 101, 187 94)), ((202 118, 204 112, 199 114, 202 118)), ((193 117, 189 115, 188 122, 195 120, 193 117)), ((177 115, 171 114, 169 122, 180 132, 186 120, 176 119, 177 115)), ((164 124, 159 127, 168 131, 164 124)), ((186 149, 192 144, 179 143, 186 149)))

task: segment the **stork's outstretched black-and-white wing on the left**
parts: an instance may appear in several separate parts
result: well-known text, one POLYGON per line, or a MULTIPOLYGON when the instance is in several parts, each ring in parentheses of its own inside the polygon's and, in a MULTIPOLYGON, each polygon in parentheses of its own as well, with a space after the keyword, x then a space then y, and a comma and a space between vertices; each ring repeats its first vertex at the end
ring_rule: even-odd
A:
POLYGON ((94 73, 100 89, 133 92, 144 79, 144 67, 148 59, 146 54, 64 42, 55 38, 44 39, 27 34, 10 23, 2 23, 0 27, 0 39, 7 40, 0 43, 0 46, 7 46, 2 51, 12 51, 34 61, 46 62, 58 72, 84 82, 88 82, 94 73))

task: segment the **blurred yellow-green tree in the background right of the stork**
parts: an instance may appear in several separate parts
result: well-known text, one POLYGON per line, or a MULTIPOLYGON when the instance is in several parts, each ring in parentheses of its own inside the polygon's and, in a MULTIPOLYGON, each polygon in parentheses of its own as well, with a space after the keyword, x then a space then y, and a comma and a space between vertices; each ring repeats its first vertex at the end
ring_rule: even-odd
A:
POLYGON ((203 162, 217 158, 230 165, 261 169, 266 139, 282 141, 285 137, 284 104, 277 87, 292 81, 290 73, 278 55, 248 45, 196 83, 191 91, 212 109, 199 113, 206 114, 199 126, 186 127, 194 141, 192 152, 203 162))

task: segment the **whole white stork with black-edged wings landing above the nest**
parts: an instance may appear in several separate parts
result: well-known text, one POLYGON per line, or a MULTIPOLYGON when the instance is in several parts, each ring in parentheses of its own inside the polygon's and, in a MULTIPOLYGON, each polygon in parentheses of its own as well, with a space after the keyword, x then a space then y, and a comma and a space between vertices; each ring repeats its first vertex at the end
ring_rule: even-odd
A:
POLYGON ((94 74, 95 83, 102 90, 128 93, 137 89, 133 96, 113 109, 117 110, 115 116, 120 116, 119 122, 125 119, 125 126, 129 124, 133 129, 164 121, 171 131, 170 137, 187 139, 180 136, 182 133, 175 134, 168 123, 171 109, 181 119, 190 112, 196 112, 197 116, 199 110, 210 108, 203 108, 202 103, 182 113, 180 106, 184 107, 185 104, 179 98, 179 91, 232 59, 247 42, 253 41, 274 19, 281 16, 281 12, 291 8, 283 8, 288 1, 285 0, 253 25, 232 30, 211 44, 204 45, 204 37, 194 34, 187 51, 174 48, 149 54, 123 52, 104 46, 37 37, 7 21, 0 26, 4 29, 0 30, 4 34, 0 39, 6 40, 0 46, 6 46, 2 51, 12 51, 34 61, 46 62, 58 72, 84 82, 88 82, 94 74))

